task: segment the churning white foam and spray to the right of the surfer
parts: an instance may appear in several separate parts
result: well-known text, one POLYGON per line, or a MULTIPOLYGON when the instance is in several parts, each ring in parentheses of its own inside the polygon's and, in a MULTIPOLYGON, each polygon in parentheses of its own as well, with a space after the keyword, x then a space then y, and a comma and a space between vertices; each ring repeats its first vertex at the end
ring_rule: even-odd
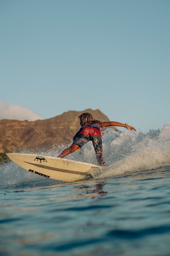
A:
POLYGON ((105 171, 100 177, 170 166, 169 125, 165 125, 160 131, 150 130, 148 133, 126 130, 112 141, 111 146, 112 156, 110 159, 113 160, 113 163, 105 167, 105 171))

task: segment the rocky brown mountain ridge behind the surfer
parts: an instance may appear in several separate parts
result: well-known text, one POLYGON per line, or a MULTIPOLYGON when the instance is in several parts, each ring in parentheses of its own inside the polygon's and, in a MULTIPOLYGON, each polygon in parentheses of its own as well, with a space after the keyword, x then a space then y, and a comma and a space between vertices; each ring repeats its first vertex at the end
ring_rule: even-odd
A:
MULTIPOLYGON (((19 152, 22 149, 46 148, 52 145, 71 143, 74 134, 80 128, 78 116, 84 112, 91 113, 97 120, 109 121, 99 109, 68 111, 56 117, 36 120, 0 120, 0 153, 19 152)), ((117 130, 114 127, 115 130, 117 130)))

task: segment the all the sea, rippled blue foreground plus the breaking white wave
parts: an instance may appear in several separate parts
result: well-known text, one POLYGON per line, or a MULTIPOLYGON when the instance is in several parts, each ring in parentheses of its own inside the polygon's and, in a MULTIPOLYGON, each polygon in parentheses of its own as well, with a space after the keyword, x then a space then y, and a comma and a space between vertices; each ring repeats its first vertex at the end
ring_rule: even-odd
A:
MULTIPOLYGON (((0 255, 169 256, 170 126, 107 128, 103 156, 101 174, 74 183, 0 166, 0 255)), ((91 142, 67 158, 96 164, 91 142)))

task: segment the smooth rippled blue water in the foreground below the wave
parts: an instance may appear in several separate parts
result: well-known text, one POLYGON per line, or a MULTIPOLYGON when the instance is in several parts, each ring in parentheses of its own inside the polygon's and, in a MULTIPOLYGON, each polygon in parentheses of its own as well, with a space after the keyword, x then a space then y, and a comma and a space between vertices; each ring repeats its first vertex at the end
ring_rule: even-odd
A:
POLYGON ((170 255, 170 168, 0 187, 4 256, 170 255))

